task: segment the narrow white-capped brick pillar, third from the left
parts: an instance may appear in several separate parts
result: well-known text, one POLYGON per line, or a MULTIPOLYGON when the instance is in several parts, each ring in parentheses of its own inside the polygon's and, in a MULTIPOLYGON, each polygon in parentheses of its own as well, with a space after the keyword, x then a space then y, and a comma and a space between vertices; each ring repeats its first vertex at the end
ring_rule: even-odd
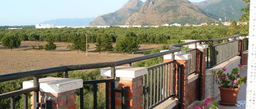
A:
POLYGON ((182 109, 188 108, 188 100, 187 100, 187 94, 189 94, 189 91, 187 91, 188 86, 188 73, 189 73, 189 62, 192 59, 191 54, 177 54, 175 55, 175 61, 180 64, 181 67, 181 94, 180 94, 180 106, 182 109))

